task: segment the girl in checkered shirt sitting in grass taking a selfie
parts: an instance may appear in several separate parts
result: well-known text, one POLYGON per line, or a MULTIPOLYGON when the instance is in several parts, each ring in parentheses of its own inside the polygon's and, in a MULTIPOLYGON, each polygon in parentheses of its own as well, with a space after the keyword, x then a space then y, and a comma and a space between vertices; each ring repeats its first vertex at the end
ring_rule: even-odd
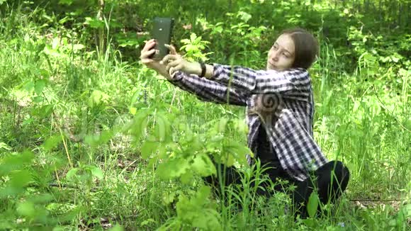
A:
MULTIPOLYGON (((188 62, 169 45, 171 55, 157 62, 149 58, 154 44, 154 40, 146 43, 141 62, 171 84, 203 101, 247 107, 248 146, 261 165, 269 167, 266 174, 271 181, 286 179, 296 186, 291 196, 302 217, 314 188, 322 203, 335 201, 345 190, 347 167, 328 162, 313 140, 313 89, 307 71, 318 54, 313 35, 300 28, 284 30, 269 50, 266 70, 188 62)), ((254 162, 249 156, 247 160, 254 162)), ((240 182, 235 169, 227 173, 227 184, 240 182)), ((213 178, 207 181, 218 185, 213 178)), ((277 185, 274 190, 281 188, 277 185)), ((271 195, 268 190, 259 193, 271 195)))

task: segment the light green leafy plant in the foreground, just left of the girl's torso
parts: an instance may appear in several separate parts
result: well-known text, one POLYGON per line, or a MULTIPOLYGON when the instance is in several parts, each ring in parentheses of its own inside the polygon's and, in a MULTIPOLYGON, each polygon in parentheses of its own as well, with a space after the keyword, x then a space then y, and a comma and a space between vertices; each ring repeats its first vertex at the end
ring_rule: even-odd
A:
MULTIPOLYGON (((124 132, 132 135, 136 146, 140 146, 143 138, 142 157, 148 160, 149 168, 154 168, 157 176, 166 181, 177 179, 191 185, 198 176, 216 174, 213 162, 227 167, 236 162, 247 164, 245 154, 250 153, 249 149, 227 135, 230 129, 245 131, 244 121, 212 120, 204 123, 207 132, 202 134, 194 133, 187 121, 176 109, 169 113, 157 106, 135 113, 124 132)), ((164 228, 221 229, 217 206, 209 200, 211 188, 200 186, 194 194, 190 198, 180 193, 176 202, 177 216, 164 224, 164 228)))

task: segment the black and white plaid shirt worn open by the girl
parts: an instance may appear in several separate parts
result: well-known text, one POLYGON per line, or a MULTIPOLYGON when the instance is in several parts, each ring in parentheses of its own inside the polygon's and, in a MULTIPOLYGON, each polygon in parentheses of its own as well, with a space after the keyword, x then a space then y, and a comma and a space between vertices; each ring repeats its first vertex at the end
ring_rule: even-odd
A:
MULTIPOLYGON (((250 150, 257 150, 258 130, 264 122, 274 154, 294 179, 303 181, 310 170, 328 162, 313 140, 313 91, 305 69, 277 72, 214 64, 212 80, 176 72, 170 82, 203 101, 247 106, 250 150), (276 102, 263 120, 252 109, 259 97, 269 95, 276 96, 276 102)), ((247 159, 251 164, 249 155, 247 159)))

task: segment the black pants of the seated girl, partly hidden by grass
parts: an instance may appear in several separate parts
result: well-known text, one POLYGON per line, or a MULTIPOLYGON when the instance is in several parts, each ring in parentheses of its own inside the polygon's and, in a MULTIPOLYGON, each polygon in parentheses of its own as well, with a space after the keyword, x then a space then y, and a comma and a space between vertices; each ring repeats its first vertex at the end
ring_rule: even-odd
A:
MULTIPOLYGON (((227 167, 224 169, 224 166, 220 165, 220 167, 217 166, 217 169, 220 169, 220 176, 225 175, 225 186, 230 184, 241 184, 240 172, 234 167, 227 167), (223 174, 223 172, 225 174, 223 174)), ((297 208, 297 214, 300 214, 302 218, 307 217, 306 205, 308 203, 308 198, 310 198, 310 195, 315 188, 317 189, 317 194, 321 203, 333 203, 339 196, 341 196, 345 188, 347 188, 349 181, 349 170, 339 161, 332 161, 324 164, 310 174, 311 176, 308 179, 305 179, 305 181, 291 179, 291 176, 281 168, 270 168, 265 171, 265 174, 267 174, 274 183, 276 183, 277 179, 285 179, 289 182, 288 184, 294 185, 295 189, 293 191, 284 191, 285 188, 288 188, 287 186, 276 184, 276 186, 274 186, 274 191, 270 191, 268 184, 262 184, 261 186, 263 186, 264 189, 257 190, 257 194, 269 198, 275 191, 288 193, 291 198, 293 198, 293 203, 295 208, 297 208)), ((220 179, 223 178, 220 177, 220 179)), ((205 181, 208 184, 211 184, 215 191, 218 193, 220 192, 220 184, 217 177, 208 176, 205 177, 205 181)))

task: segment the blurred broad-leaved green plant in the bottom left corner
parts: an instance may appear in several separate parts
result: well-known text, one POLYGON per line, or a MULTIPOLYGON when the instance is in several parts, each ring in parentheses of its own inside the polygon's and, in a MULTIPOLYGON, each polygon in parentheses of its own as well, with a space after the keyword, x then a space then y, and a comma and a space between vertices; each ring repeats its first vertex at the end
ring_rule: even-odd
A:
MULTIPOLYGON (((47 142, 43 148, 49 150, 54 145, 47 142)), ((58 227, 59 223, 73 220, 83 210, 79 206, 62 213, 54 208, 58 207, 55 196, 47 192, 50 191, 48 182, 52 180, 52 174, 64 165, 62 159, 54 159, 43 167, 35 168, 38 164, 33 152, 9 152, 11 147, 3 142, 0 142, 0 150, 1 230, 58 227)))

